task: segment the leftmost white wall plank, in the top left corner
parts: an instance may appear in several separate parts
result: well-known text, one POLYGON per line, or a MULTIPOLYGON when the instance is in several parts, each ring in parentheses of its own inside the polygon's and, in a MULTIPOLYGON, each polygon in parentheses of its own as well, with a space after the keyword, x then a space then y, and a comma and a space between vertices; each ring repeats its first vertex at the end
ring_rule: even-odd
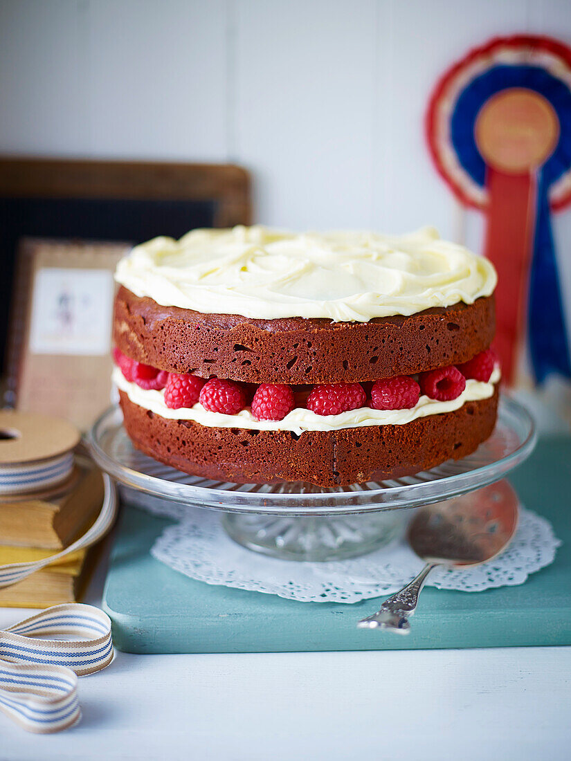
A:
POLYGON ((78 0, 0 2, 0 151, 89 150, 86 64, 78 0))

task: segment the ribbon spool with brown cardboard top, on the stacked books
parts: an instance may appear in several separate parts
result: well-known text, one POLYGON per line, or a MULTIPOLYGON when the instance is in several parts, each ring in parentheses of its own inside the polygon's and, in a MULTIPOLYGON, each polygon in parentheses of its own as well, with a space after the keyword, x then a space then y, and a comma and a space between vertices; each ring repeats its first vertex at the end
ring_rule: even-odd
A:
POLYGON ((0 496, 41 492, 68 480, 79 438, 65 420, 0 410, 0 496))

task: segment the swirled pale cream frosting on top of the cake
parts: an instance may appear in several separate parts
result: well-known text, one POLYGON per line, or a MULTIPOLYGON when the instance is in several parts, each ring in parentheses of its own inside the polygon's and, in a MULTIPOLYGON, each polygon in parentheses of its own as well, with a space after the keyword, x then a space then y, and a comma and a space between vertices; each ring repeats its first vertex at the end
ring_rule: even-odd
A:
POLYGON ((490 296, 496 271, 433 228, 293 234, 254 227, 157 237, 120 261, 116 280, 162 306, 206 314, 367 322, 490 296))

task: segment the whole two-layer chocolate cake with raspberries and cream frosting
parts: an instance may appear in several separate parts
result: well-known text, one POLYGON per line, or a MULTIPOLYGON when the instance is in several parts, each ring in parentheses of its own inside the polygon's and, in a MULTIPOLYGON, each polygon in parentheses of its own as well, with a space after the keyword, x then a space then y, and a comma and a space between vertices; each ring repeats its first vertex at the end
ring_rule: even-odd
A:
POLYGON ((116 270, 113 380, 145 454, 337 486, 471 454, 496 422, 496 272, 430 228, 196 230, 116 270))

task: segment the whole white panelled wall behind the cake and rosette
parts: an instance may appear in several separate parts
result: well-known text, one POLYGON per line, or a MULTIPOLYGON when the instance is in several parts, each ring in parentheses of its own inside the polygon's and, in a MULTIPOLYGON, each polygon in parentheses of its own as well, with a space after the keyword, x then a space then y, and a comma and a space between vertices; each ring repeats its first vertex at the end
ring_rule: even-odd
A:
POLYGON ((0 151, 237 161, 267 224, 456 237, 429 91, 525 31, 571 42, 568 0, 2 0, 0 151))

